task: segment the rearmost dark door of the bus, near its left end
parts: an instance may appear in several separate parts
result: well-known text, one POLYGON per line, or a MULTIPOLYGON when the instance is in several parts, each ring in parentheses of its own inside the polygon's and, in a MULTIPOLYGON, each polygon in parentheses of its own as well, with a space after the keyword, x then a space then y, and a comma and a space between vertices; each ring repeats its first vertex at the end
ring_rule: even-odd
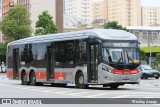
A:
POLYGON ((13 79, 18 79, 19 49, 13 49, 13 79))

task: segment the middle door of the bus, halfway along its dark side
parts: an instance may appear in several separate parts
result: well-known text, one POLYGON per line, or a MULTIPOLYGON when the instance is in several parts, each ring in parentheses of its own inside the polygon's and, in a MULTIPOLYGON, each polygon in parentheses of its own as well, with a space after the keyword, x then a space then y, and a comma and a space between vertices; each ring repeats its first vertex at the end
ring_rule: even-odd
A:
POLYGON ((54 80, 55 52, 54 47, 47 47, 47 81, 54 80))

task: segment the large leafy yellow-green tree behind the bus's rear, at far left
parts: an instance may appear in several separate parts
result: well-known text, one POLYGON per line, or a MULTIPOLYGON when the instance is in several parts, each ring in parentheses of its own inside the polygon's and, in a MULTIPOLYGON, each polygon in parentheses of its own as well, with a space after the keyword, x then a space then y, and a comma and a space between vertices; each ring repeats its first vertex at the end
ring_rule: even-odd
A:
POLYGON ((22 5, 11 8, 0 24, 7 42, 31 36, 31 21, 27 9, 22 5))

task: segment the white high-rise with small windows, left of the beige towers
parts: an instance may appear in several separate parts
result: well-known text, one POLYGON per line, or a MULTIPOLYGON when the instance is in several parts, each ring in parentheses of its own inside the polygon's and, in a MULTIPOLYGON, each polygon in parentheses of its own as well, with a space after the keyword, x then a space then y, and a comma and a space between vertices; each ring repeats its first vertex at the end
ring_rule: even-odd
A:
POLYGON ((91 22, 92 0, 65 0, 65 14, 91 22))

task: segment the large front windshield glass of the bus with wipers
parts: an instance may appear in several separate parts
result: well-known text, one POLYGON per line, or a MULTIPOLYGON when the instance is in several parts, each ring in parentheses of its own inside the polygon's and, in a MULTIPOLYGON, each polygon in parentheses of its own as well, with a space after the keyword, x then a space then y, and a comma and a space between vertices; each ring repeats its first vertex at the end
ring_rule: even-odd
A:
POLYGON ((139 51, 136 48, 103 48, 102 56, 107 63, 139 63, 139 51))

